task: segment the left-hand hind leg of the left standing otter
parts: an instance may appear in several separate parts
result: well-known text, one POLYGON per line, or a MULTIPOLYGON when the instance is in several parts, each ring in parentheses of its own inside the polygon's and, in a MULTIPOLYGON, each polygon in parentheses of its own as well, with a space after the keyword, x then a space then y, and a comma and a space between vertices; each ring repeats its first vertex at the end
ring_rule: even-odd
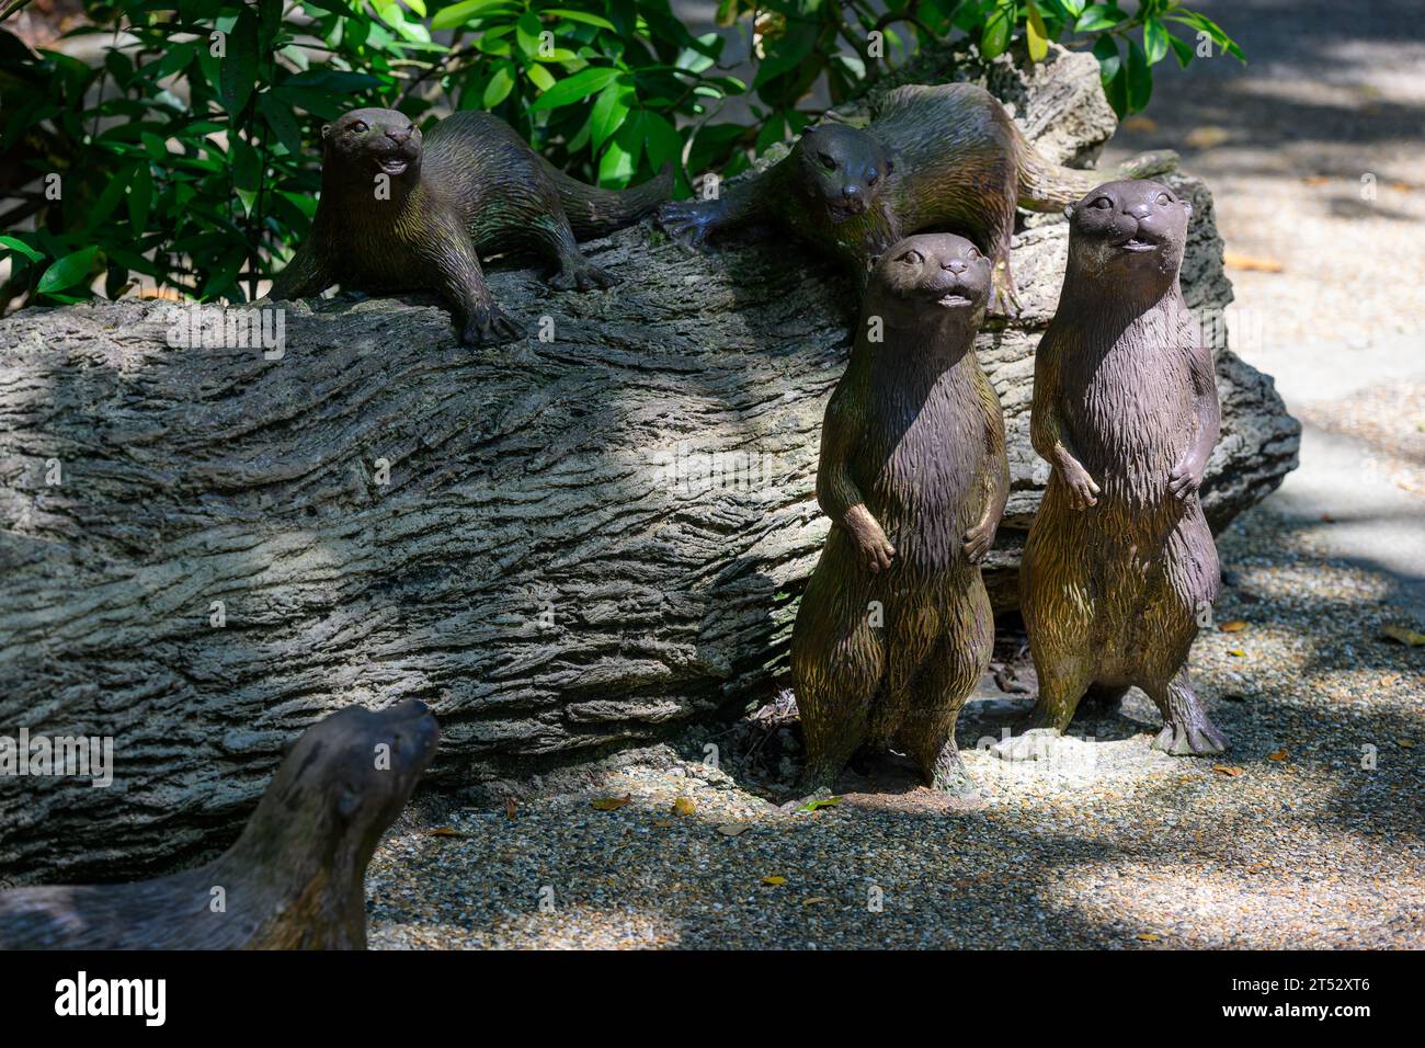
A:
POLYGON ((818 566, 792 627, 792 687, 807 744, 799 794, 832 788, 866 740, 885 670, 884 630, 871 626, 866 599, 834 589, 818 566))

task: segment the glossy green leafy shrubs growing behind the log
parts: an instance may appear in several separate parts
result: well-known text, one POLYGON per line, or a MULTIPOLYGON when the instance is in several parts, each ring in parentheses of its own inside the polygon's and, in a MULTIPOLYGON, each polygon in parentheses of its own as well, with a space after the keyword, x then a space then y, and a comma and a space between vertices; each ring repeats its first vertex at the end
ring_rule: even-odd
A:
POLYGON ((618 187, 677 158, 734 174, 815 118, 817 91, 836 104, 952 36, 1027 60, 1049 40, 1092 40, 1120 114, 1147 104, 1167 51, 1191 60, 1198 33, 1241 57, 1170 0, 1131 16, 1083 0, 889 0, 879 13, 865 0, 718 0, 718 24, 752 46, 750 83, 724 61, 727 34, 694 36, 668 0, 84 9, 91 24, 63 50, 36 54, 0 24, 0 198, 13 201, 0 215, 11 265, 0 311, 77 301, 98 278, 111 298, 137 282, 254 297, 311 225, 321 124, 353 106, 490 110, 554 163, 618 187), (747 106, 728 118, 734 97, 747 106))

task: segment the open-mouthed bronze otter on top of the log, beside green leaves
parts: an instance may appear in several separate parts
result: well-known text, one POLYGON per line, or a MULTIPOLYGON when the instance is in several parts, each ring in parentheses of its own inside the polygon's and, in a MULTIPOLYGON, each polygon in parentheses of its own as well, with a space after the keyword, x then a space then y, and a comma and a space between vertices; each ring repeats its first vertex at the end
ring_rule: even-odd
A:
POLYGON ((271 298, 332 284, 369 294, 430 291, 463 344, 523 337, 484 284, 480 255, 533 251, 556 288, 610 287, 579 241, 630 225, 667 200, 671 168, 633 190, 584 185, 489 113, 455 113, 422 135, 395 110, 353 110, 322 128, 322 198, 271 298))

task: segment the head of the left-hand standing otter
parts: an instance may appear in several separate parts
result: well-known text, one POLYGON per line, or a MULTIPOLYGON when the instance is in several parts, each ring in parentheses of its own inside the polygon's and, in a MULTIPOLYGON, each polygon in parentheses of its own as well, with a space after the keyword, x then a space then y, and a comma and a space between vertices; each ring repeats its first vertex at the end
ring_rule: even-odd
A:
POLYGON ((871 271, 866 312, 892 328, 938 322, 979 327, 989 302, 990 272, 989 258, 963 237, 906 237, 871 271))

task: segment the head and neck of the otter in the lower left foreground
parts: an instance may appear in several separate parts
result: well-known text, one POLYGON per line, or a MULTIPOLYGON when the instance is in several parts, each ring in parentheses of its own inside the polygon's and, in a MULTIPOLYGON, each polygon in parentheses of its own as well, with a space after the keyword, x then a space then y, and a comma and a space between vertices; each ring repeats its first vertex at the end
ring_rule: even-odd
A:
POLYGON ((282 761, 235 850, 281 856, 278 864, 298 875, 315 860, 338 881, 361 877, 437 739, 435 717, 416 700, 349 706, 318 721, 282 761))

